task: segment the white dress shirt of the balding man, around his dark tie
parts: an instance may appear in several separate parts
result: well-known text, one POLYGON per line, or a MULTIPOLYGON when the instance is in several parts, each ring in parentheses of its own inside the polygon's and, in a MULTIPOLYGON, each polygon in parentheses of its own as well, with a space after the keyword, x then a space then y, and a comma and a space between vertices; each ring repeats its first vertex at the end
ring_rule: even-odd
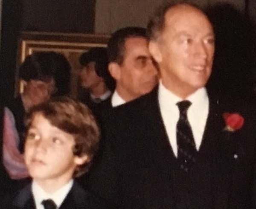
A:
MULTIPOLYGON (((159 84, 158 99, 166 133, 172 146, 172 150, 177 157, 176 126, 180 116, 180 111, 176 103, 181 102, 184 99, 179 98, 166 89, 166 87, 163 86, 162 81, 160 81, 159 84)), ((195 145, 197 150, 199 150, 209 113, 209 99, 205 87, 198 89, 185 100, 192 102, 187 114, 195 139, 195 145)))

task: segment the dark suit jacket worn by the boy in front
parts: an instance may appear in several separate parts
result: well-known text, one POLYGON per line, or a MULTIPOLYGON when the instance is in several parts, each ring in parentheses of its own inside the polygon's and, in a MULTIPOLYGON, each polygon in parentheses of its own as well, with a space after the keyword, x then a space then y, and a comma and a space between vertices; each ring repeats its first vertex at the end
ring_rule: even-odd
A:
MULTIPOLYGON (((4 209, 35 209, 31 184, 15 193, 14 197, 7 197, 2 206, 4 209)), ((75 181, 70 192, 65 197, 59 209, 108 209, 104 201, 88 190, 84 190, 75 181)))

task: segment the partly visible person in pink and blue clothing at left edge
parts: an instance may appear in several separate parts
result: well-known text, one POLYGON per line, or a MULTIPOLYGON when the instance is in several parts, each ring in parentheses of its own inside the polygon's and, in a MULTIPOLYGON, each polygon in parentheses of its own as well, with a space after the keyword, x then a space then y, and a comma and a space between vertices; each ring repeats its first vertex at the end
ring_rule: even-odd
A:
POLYGON ((20 142, 12 112, 0 105, 0 200, 16 191, 29 179, 23 154, 17 148, 20 142))

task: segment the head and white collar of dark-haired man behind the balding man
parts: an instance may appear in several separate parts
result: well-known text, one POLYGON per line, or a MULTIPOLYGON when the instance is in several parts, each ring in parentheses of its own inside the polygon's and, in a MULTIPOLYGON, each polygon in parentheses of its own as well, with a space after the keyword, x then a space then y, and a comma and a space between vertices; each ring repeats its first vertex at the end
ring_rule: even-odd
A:
POLYGON ((149 93, 158 83, 157 68, 148 50, 146 30, 121 28, 108 42, 108 70, 116 80, 111 105, 116 107, 149 93))

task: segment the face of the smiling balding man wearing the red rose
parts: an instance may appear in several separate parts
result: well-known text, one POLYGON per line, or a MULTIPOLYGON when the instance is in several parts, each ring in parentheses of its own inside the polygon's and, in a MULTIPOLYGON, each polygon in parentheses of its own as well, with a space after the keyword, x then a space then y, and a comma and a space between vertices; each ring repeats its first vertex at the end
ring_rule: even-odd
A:
POLYGON ((185 98, 204 87, 212 71, 214 33, 198 9, 180 5, 165 16, 165 27, 156 41, 154 58, 163 84, 185 98))

